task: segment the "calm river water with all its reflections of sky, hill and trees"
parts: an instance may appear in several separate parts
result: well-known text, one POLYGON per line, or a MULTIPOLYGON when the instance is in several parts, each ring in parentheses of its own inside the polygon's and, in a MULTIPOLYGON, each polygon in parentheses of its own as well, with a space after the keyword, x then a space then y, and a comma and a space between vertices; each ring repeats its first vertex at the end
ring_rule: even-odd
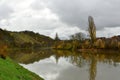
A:
POLYGON ((45 80, 120 80, 119 51, 18 52, 12 58, 45 80))

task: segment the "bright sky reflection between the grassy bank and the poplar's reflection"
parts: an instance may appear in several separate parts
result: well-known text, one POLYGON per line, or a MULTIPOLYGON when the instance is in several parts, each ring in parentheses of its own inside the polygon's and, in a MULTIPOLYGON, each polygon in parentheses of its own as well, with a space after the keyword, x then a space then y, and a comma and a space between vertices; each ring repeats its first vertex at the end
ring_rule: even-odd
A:
POLYGON ((21 65, 40 75, 45 80, 88 80, 89 76, 88 68, 80 69, 66 61, 65 58, 59 58, 58 63, 56 63, 53 56, 33 64, 21 65))

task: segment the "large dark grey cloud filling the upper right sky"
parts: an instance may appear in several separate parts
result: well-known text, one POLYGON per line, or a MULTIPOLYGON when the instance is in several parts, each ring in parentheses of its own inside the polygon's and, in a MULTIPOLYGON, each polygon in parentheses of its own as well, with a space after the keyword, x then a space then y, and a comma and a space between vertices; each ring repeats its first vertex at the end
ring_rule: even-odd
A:
POLYGON ((88 16, 94 17, 97 29, 120 26, 120 0, 44 0, 63 22, 88 27, 88 16))

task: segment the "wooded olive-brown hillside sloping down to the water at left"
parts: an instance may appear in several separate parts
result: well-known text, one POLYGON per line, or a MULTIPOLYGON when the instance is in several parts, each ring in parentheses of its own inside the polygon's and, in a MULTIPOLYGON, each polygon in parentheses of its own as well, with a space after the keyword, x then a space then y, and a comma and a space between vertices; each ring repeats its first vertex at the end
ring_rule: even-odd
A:
POLYGON ((50 47, 53 39, 32 31, 11 32, 0 29, 0 43, 8 47, 50 47))

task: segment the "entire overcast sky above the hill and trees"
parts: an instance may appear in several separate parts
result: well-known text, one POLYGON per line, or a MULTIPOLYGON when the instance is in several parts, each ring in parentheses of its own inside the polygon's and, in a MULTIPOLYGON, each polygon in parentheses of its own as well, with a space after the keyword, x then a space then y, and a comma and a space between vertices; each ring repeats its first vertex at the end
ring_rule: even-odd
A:
MULTIPOLYGON (((120 34, 120 0, 0 0, 0 28, 54 38, 83 32, 93 16, 97 36, 120 34)), ((86 33, 87 34, 87 33, 86 33)))

